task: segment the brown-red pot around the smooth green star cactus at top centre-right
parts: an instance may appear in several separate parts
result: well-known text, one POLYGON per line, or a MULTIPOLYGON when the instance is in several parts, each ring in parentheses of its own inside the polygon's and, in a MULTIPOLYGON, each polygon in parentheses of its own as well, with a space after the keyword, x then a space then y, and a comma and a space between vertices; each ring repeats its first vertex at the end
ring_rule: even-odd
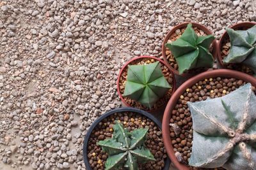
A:
MULTIPOLYGON (((163 41, 163 45, 162 45, 162 55, 163 55, 163 58, 164 58, 164 61, 168 64, 168 66, 171 68, 171 70, 173 71, 174 74, 177 74, 177 75, 181 75, 181 76, 186 76, 186 77, 191 77, 195 74, 192 74, 192 73, 183 73, 183 74, 179 74, 179 71, 177 71, 176 69, 174 69, 172 66, 170 66, 169 62, 168 62, 168 59, 166 57, 166 46, 165 44, 167 43, 168 39, 170 38, 170 36, 175 33, 175 31, 177 29, 182 29, 184 27, 187 27, 187 25, 191 23, 193 27, 198 27, 198 29, 202 30, 205 32, 205 34, 207 35, 211 35, 212 32, 207 29, 207 27, 205 27, 204 25, 201 25, 201 24, 198 24, 196 22, 183 22, 182 24, 179 24, 179 25, 176 25, 175 27, 173 27, 169 32, 168 34, 165 36, 164 38, 164 41, 163 41)), ((216 59, 216 56, 217 56, 217 52, 216 52, 216 48, 217 48, 217 43, 216 43, 216 39, 214 39, 214 41, 212 42, 212 57, 214 59, 216 59)))

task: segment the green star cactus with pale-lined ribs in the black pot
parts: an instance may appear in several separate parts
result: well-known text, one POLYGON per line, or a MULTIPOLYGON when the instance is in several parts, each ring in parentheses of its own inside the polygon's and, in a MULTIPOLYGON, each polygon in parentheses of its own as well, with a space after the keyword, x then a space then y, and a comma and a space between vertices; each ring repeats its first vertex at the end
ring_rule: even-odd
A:
POLYGON ((124 126, 115 121, 113 138, 99 141, 97 145, 108 153, 106 170, 118 170, 122 167, 129 170, 138 169, 138 164, 155 161, 154 156, 145 148, 148 129, 135 129, 128 132, 124 126))

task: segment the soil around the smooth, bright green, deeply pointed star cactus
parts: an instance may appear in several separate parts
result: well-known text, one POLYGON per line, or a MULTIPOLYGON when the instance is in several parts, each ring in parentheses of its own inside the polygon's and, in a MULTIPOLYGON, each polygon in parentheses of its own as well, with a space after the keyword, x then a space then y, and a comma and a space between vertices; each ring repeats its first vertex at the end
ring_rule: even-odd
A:
MULTIPOLYGON (((182 28, 182 29, 177 29, 168 39, 167 43, 172 43, 173 41, 175 41, 176 39, 180 38, 180 36, 183 34, 183 32, 185 31, 186 27, 182 28)), ((198 36, 207 36, 207 34, 200 30, 198 27, 193 27, 193 29, 195 30, 196 34, 198 36)), ((169 50, 169 48, 165 48, 165 54, 166 54, 166 59, 168 60, 170 66, 173 67, 173 69, 179 71, 179 66, 172 54, 172 52, 169 50)), ((210 46, 210 52, 212 53, 212 46, 210 46)), ((188 74, 195 74, 195 73, 201 73, 203 71, 206 71, 209 68, 196 68, 196 69, 191 69, 189 70, 187 73, 188 74)))

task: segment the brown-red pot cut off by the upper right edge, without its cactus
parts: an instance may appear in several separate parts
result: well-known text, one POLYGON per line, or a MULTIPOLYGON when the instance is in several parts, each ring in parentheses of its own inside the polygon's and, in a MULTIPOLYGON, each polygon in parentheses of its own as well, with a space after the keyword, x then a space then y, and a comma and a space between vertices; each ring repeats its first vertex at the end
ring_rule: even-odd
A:
MULTIPOLYGON (((256 22, 241 22, 239 24, 232 25, 230 28, 246 30, 246 29, 249 29, 250 27, 253 27, 254 25, 256 25, 256 22)), ((218 54, 217 60, 220 64, 220 66, 223 68, 225 68, 225 64, 223 63, 223 59, 221 57, 221 47, 222 47, 222 43, 223 43, 223 41, 225 41, 225 39, 229 39, 227 31, 225 31, 223 33, 223 35, 221 36, 220 41, 218 41, 218 45, 217 45, 217 54, 218 54)))

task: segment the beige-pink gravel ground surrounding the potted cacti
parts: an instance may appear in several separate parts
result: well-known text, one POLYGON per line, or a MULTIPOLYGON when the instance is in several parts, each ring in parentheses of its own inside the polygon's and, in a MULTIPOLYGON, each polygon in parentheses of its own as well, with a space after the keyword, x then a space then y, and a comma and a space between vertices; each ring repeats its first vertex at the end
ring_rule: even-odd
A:
POLYGON ((83 137, 121 106, 125 61, 159 57, 180 22, 220 36, 255 10, 255 0, 0 1, 0 169, 85 169, 83 137))

